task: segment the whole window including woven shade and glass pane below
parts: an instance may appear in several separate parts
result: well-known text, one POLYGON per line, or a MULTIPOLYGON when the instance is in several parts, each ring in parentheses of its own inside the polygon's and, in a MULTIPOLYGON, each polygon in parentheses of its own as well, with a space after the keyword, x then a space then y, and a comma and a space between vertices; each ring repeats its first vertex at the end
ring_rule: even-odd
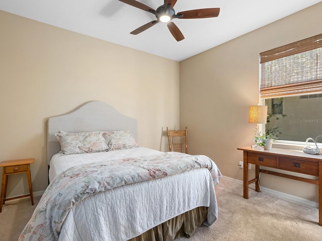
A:
POLYGON ((260 54, 266 135, 322 143, 322 34, 260 54))

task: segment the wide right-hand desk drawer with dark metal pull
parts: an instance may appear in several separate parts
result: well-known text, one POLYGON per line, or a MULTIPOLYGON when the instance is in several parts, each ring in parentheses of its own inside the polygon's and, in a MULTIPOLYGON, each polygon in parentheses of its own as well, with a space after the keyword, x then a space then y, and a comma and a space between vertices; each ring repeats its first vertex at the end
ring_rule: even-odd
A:
POLYGON ((278 162, 278 168, 291 172, 299 172, 307 175, 318 176, 317 162, 301 161, 290 158, 280 158, 278 162))

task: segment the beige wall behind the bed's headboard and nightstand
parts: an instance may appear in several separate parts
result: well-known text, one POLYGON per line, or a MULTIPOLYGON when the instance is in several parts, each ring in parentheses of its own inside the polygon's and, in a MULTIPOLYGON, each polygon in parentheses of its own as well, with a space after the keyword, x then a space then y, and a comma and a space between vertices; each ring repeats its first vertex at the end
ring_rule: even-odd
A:
MULTIPOLYGON (((163 131, 179 126, 179 62, 2 11, 0 34, 0 161, 35 158, 34 192, 47 187, 48 117, 87 101, 136 118, 138 144, 164 151, 163 131)), ((10 176, 7 197, 26 183, 10 176)))

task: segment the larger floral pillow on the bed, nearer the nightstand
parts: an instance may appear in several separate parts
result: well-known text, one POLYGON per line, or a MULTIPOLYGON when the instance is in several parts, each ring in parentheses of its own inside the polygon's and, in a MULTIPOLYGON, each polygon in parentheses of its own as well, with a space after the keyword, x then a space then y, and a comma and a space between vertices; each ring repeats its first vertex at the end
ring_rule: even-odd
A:
POLYGON ((59 132, 55 136, 63 154, 103 152, 109 149, 102 132, 59 132))

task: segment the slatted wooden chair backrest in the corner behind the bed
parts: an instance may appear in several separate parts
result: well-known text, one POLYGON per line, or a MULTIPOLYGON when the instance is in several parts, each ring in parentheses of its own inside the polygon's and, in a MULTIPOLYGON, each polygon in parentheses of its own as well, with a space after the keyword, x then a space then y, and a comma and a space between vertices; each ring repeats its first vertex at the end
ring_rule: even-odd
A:
POLYGON ((172 130, 167 127, 169 148, 171 152, 184 152, 183 147, 186 146, 186 153, 188 154, 188 136, 186 130, 172 130))

